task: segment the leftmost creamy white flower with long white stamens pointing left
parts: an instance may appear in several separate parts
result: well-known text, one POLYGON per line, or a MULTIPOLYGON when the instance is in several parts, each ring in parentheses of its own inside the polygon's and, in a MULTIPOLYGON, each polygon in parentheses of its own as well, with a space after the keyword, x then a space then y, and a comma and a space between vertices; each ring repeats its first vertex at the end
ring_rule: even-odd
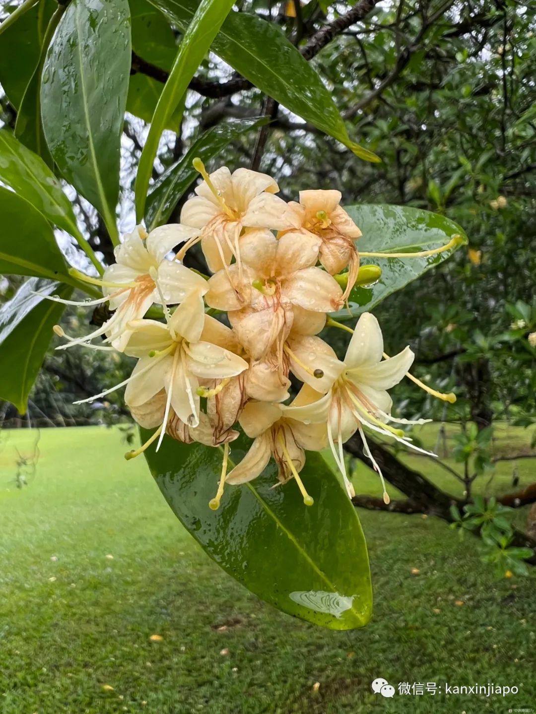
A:
MULTIPOLYGON (((106 268, 102 279, 89 278, 79 273, 82 280, 102 287, 103 298, 83 303, 53 299, 84 307, 109 302, 114 312, 108 321, 89 335, 69 338, 69 342, 58 349, 78 344, 93 346, 91 340, 106 334, 105 343, 111 343, 113 348, 123 351, 132 334, 128 323, 143 318, 153 303, 167 306, 181 303, 191 293, 204 295, 208 286, 201 276, 178 261, 166 259, 172 248, 188 240, 191 235, 191 229, 180 225, 161 226, 149 234, 142 226, 137 226, 116 247, 114 252, 117 262, 106 268)), ((61 328, 56 332, 66 336, 61 328)))

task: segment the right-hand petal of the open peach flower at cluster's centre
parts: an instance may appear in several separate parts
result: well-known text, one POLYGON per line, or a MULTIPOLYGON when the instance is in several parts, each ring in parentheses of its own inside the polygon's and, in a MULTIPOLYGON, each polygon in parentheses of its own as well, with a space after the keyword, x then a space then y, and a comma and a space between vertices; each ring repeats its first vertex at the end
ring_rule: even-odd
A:
POLYGON ((281 284, 283 295, 305 310, 333 312, 340 306, 343 291, 335 278, 320 268, 303 268, 281 284))

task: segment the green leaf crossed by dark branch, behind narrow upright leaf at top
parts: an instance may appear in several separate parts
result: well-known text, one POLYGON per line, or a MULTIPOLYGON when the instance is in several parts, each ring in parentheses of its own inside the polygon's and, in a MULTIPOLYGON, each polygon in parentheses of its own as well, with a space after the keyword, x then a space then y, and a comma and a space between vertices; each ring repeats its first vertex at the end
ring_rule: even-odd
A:
MULTIPOLYGON (((132 50, 156 67, 170 71, 177 54, 175 35, 160 10, 147 0, 130 0, 132 50)), ((138 72, 128 84, 126 110, 149 123, 163 90, 163 83, 138 72)), ((166 129, 177 130, 181 112, 171 115, 166 129)))

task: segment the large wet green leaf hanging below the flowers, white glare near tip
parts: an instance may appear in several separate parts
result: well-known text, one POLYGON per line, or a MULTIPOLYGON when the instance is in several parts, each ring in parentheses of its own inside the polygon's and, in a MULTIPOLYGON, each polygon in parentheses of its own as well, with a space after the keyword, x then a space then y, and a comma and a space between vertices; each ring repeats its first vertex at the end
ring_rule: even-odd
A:
MULTIPOLYGON (((151 432, 142 430, 142 438, 151 432)), ((238 440, 241 442, 241 440, 238 440)), ((244 440, 246 441, 246 440, 244 440)), ((231 444, 239 461, 246 443, 231 444)), ((211 511, 222 450, 166 436, 146 452, 163 496, 183 526, 229 575, 266 602, 333 630, 368 623, 372 609, 365 538, 345 488, 319 453, 308 453, 301 472, 313 496, 304 506, 293 481, 277 482, 271 464, 243 486, 227 486, 211 511)))

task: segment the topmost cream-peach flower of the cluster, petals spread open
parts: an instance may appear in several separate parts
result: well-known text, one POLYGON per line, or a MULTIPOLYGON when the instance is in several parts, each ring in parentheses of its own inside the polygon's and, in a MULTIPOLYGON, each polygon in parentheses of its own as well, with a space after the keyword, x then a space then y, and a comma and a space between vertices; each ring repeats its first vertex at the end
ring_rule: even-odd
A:
POLYGON ((234 255, 240 262, 239 238, 244 228, 288 228, 287 204, 274 196, 277 183, 267 174, 250 169, 231 171, 226 166, 207 174, 199 159, 194 166, 205 179, 181 211, 181 223, 197 230, 198 238, 184 246, 182 256, 196 240, 208 268, 213 272, 225 268, 234 255))

